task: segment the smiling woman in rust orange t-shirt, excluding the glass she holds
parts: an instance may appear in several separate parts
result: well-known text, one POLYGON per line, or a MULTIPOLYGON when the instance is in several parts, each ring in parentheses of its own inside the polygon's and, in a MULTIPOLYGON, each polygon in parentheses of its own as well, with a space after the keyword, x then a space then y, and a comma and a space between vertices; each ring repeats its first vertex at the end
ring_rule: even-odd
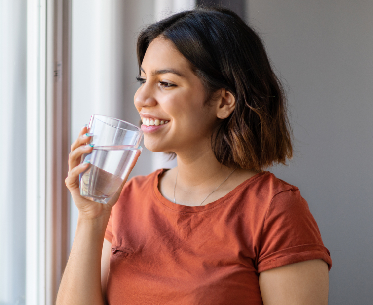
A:
POLYGON ((291 158, 292 141, 258 35, 227 9, 198 8, 144 29, 137 54, 144 144, 178 166, 131 179, 107 205, 86 200, 83 127, 57 304, 327 304, 332 262, 308 205, 263 171, 291 158))

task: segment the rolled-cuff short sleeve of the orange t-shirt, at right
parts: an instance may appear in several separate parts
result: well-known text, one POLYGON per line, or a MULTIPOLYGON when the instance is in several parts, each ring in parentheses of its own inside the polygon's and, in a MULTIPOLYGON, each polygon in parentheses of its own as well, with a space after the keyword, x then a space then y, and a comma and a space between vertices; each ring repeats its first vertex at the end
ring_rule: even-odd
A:
POLYGON ((258 272, 313 259, 332 260, 319 228, 300 191, 276 194, 266 213, 258 257, 258 272))

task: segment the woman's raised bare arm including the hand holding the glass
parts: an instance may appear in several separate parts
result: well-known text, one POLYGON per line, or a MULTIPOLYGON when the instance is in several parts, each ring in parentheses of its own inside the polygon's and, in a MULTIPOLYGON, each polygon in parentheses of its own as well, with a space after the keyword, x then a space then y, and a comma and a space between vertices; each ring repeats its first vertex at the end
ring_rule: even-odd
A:
MULTIPOLYGON (((101 285, 101 259, 105 231, 112 207, 117 202, 128 175, 141 153, 141 150, 137 152, 121 187, 107 204, 88 200, 80 196, 79 191, 79 174, 89 166, 85 163, 80 164, 81 155, 93 150, 90 145, 85 145, 89 142, 90 137, 90 134, 86 134, 86 132, 87 128, 83 127, 79 137, 72 144, 69 155, 69 173, 65 182, 79 210, 79 216, 73 247, 61 279, 56 305, 105 304, 105 296, 101 285)), ((106 258, 108 256, 107 248, 105 243, 106 258)), ((108 264, 108 262, 105 264, 108 264)), ((106 270, 108 266, 105 265, 103 268, 106 270)))

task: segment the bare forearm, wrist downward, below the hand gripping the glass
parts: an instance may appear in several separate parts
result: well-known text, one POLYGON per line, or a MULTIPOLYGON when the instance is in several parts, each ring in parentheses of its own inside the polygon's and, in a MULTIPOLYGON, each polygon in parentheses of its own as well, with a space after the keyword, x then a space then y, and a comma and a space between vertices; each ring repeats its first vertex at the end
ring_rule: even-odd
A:
POLYGON ((56 305, 104 305, 101 291, 101 254, 109 216, 78 217, 73 247, 66 265, 56 305))

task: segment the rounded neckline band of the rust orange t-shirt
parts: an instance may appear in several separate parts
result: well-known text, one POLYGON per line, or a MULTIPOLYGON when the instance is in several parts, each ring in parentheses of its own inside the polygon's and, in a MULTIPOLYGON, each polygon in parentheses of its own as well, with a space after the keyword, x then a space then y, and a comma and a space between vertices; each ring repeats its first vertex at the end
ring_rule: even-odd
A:
POLYGON ((269 172, 267 171, 262 171, 258 174, 255 174, 253 177, 245 180, 241 184, 239 184, 237 187, 235 187, 232 191, 228 192, 226 195, 223 197, 219 198, 218 200, 215 200, 213 202, 210 202, 206 205, 202 206, 187 206, 187 205, 181 205, 178 203, 171 202, 170 200, 166 199, 165 197, 162 196, 158 189, 158 183, 159 183, 159 176, 163 174, 166 170, 165 168, 158 169, 155 172, 154 175, 154 181, 153 181, 153 191, 155 196, 157 197, 158 201, 163 204, 164 206, 170 208, 171 210, 178 211, 181 213, 200 213, 200 212, 206 212, 208 210, 211 210, 218 205, 224 203, 227 201, 230 197, 247 187, 249 184, 253 183, 255 180, 259 179, 261 176, 268 174, 269 172))

